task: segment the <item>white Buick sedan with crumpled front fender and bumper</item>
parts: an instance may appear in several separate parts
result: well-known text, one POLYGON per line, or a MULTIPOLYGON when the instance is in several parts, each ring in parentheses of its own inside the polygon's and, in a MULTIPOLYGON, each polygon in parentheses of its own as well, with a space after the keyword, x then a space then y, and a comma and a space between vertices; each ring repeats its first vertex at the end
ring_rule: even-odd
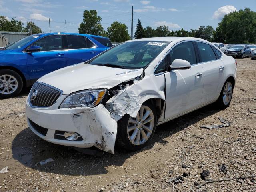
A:
POLYGON ((236 61, 199 38, 118 44, 40 78, 26 100, 32 132, 60 145, 138 150, 156 126, 216 102, 230 105, 236 61))

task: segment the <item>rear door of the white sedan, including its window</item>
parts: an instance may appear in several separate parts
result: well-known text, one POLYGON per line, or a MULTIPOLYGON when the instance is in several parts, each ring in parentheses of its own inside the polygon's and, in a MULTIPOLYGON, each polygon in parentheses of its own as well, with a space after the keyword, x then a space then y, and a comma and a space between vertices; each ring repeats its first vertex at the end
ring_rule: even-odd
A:
POLYGON ((204 91, 202 104, 212 102, 218 98, 222 88, 225 70, 223 62, 220 60, 222 54, 220 50, 205 42, 196 42, 200 56, 200 62, 204 69, 204 91))

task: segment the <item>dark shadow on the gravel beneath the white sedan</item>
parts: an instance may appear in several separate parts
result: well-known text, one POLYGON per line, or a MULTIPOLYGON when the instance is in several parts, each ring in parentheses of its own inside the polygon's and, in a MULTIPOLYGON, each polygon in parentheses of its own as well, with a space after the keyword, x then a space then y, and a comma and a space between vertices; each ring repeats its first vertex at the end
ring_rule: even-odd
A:
MULTIPOLYGON (((217 112, 219 110, 210 105, 158 126, 150 144, 140 151, 150 150, 155 143, 166 144, 164 138, 217 112)), ((116 147, 115 154, 89 156, 67 146, 46 142, 33 134, 29 128, 25 128, 14 138, 12 153, 14 159, 38 171, 66 175, 96 175, 106 174, 108 166, 122 166, 127 158, 138 152, 124 151, 116 147), (48 158, 52 158, 54 162, 44 166, 38 164, 48 158)))

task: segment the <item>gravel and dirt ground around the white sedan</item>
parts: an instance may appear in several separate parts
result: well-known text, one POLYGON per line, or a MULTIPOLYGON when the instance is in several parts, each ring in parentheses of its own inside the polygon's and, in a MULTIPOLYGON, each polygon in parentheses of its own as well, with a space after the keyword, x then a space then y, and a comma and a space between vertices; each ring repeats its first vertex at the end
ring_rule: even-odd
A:
POLYGON ((0 170, 9 167, 0 173, 0 191, 256 191, 256 61, 237 61, 229 108, 212 104, 162 124, 137 152, 117 148, 114 155, 88 156, 48 143, 27 126, 28 90, 0 100, 0 170), (221 124, 218 117, 230 126, 200 128, 221 124), (38 163, 48 158, 53 162, 38 163), (238 179, 199 186, 229 178, 238 179))

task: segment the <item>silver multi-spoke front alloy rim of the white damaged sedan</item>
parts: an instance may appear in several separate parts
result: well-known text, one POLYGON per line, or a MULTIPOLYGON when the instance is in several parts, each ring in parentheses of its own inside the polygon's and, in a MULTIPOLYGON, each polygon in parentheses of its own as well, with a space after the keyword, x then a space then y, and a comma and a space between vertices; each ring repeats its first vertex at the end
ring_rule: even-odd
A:
POLYGON ((144 144, 152 134, 154 128, 154 114, 148 106, 141 106, 136 118, 130 117, 127 134, 134 145, 144 144))

